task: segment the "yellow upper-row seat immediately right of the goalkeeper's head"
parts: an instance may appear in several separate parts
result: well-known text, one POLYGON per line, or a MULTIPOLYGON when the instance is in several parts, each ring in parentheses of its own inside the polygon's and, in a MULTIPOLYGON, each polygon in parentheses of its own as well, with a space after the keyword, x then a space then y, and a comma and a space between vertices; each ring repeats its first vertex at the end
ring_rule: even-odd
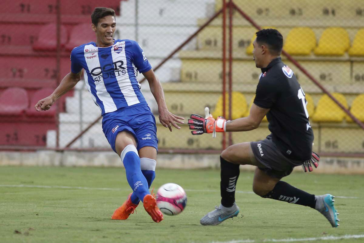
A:
POLYGON ((310 55, 316 47, 316 36, 309 27, 296 27, 289 31, 283 50, 292 55, 310 55))

